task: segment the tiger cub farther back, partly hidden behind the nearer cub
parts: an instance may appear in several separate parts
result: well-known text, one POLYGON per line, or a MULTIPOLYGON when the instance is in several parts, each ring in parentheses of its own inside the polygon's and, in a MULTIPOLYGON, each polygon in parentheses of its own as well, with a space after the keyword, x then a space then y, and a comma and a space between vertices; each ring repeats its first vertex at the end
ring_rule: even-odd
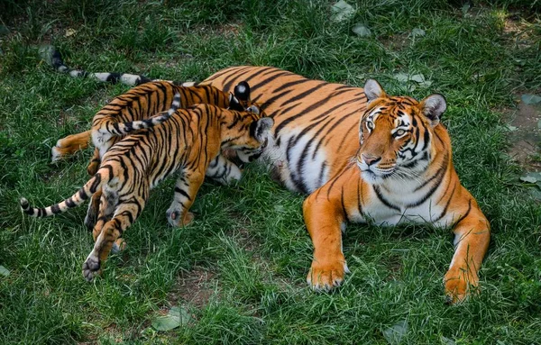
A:
MULTIPOLYGON (((87 167, 90 176, 96 174, 97 168, 105 152, 115 142, 120 141, 122 135, 132 128, 120 127, 132 126, 134 121, 140 121, 139 128, 144 128, 144 120, 151 114, 166 111, 170 106, 173 95, 180 95, 181 107, 187 108, 193 104, 215 104, 221 108, 243 111, 250 104, 250 86, 246 82, 240 82, 234 87, 234 95, 226 94, 214 86, 179 86, 170 81, 153 81, 133 87, 123 95, 115 97, 113 101, 106 104, 96 113, 92 121, 92 129, 87 132, 69 136, 57 142, 52 148, 53 158, 62 150, 71 150, 75 146, 87 145, 91 136, 96 147, 94 156, 87 167), (60 148, 62 146, 62 148, 60 148)), ((135 126, 137 127, 137 126, 135 126)), ((133 128, 137 129, 137 128, 133 128)), ((245 162, 258 157, 251 150, 239 152, 237 156, 245 162)), ((241 178, 241 170, 224 156, 217 156, 206 170, 206 176, 226 185, 241 178)), ((101 192, 98 190, 92 196, 88 205, 85 224, 89 230, 96 224, 97 209, 101 192)))

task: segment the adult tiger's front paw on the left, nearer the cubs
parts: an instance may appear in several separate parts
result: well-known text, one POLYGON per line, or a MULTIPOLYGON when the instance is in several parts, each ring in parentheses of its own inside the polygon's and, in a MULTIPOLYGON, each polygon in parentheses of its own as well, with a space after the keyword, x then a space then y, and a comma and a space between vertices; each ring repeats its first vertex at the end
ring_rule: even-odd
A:
POLYGON ((346 273, 349 273, 349 269, 345 260, 327 264, 314 260, 307 275, 307 283, 314 291, 329 291, 342 284, 346 273))

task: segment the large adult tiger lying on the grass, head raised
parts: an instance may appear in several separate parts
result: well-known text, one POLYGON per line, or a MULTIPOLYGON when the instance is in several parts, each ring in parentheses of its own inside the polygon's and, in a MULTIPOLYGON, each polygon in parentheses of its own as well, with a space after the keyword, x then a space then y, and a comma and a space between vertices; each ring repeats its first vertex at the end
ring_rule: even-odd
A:
POLYGON ((271 176, 309 194, 303 212, 315 247, 310 286, 341 284, 347 272, 341 229, 345 222, 370 218, 388 225, 453 227, 455 252, 445 294, 452 302, 470 294, 470 286, 479 283, 490 225, 454 170, 451 142, 439 123, 443 96, 417 102, 388 96, 373 80, 362 89, 250 66, 225 68, 199 85, 227 91, 241 80, 250 83, 252 100, 275 122, 273 140, 261 156, 271 176))

